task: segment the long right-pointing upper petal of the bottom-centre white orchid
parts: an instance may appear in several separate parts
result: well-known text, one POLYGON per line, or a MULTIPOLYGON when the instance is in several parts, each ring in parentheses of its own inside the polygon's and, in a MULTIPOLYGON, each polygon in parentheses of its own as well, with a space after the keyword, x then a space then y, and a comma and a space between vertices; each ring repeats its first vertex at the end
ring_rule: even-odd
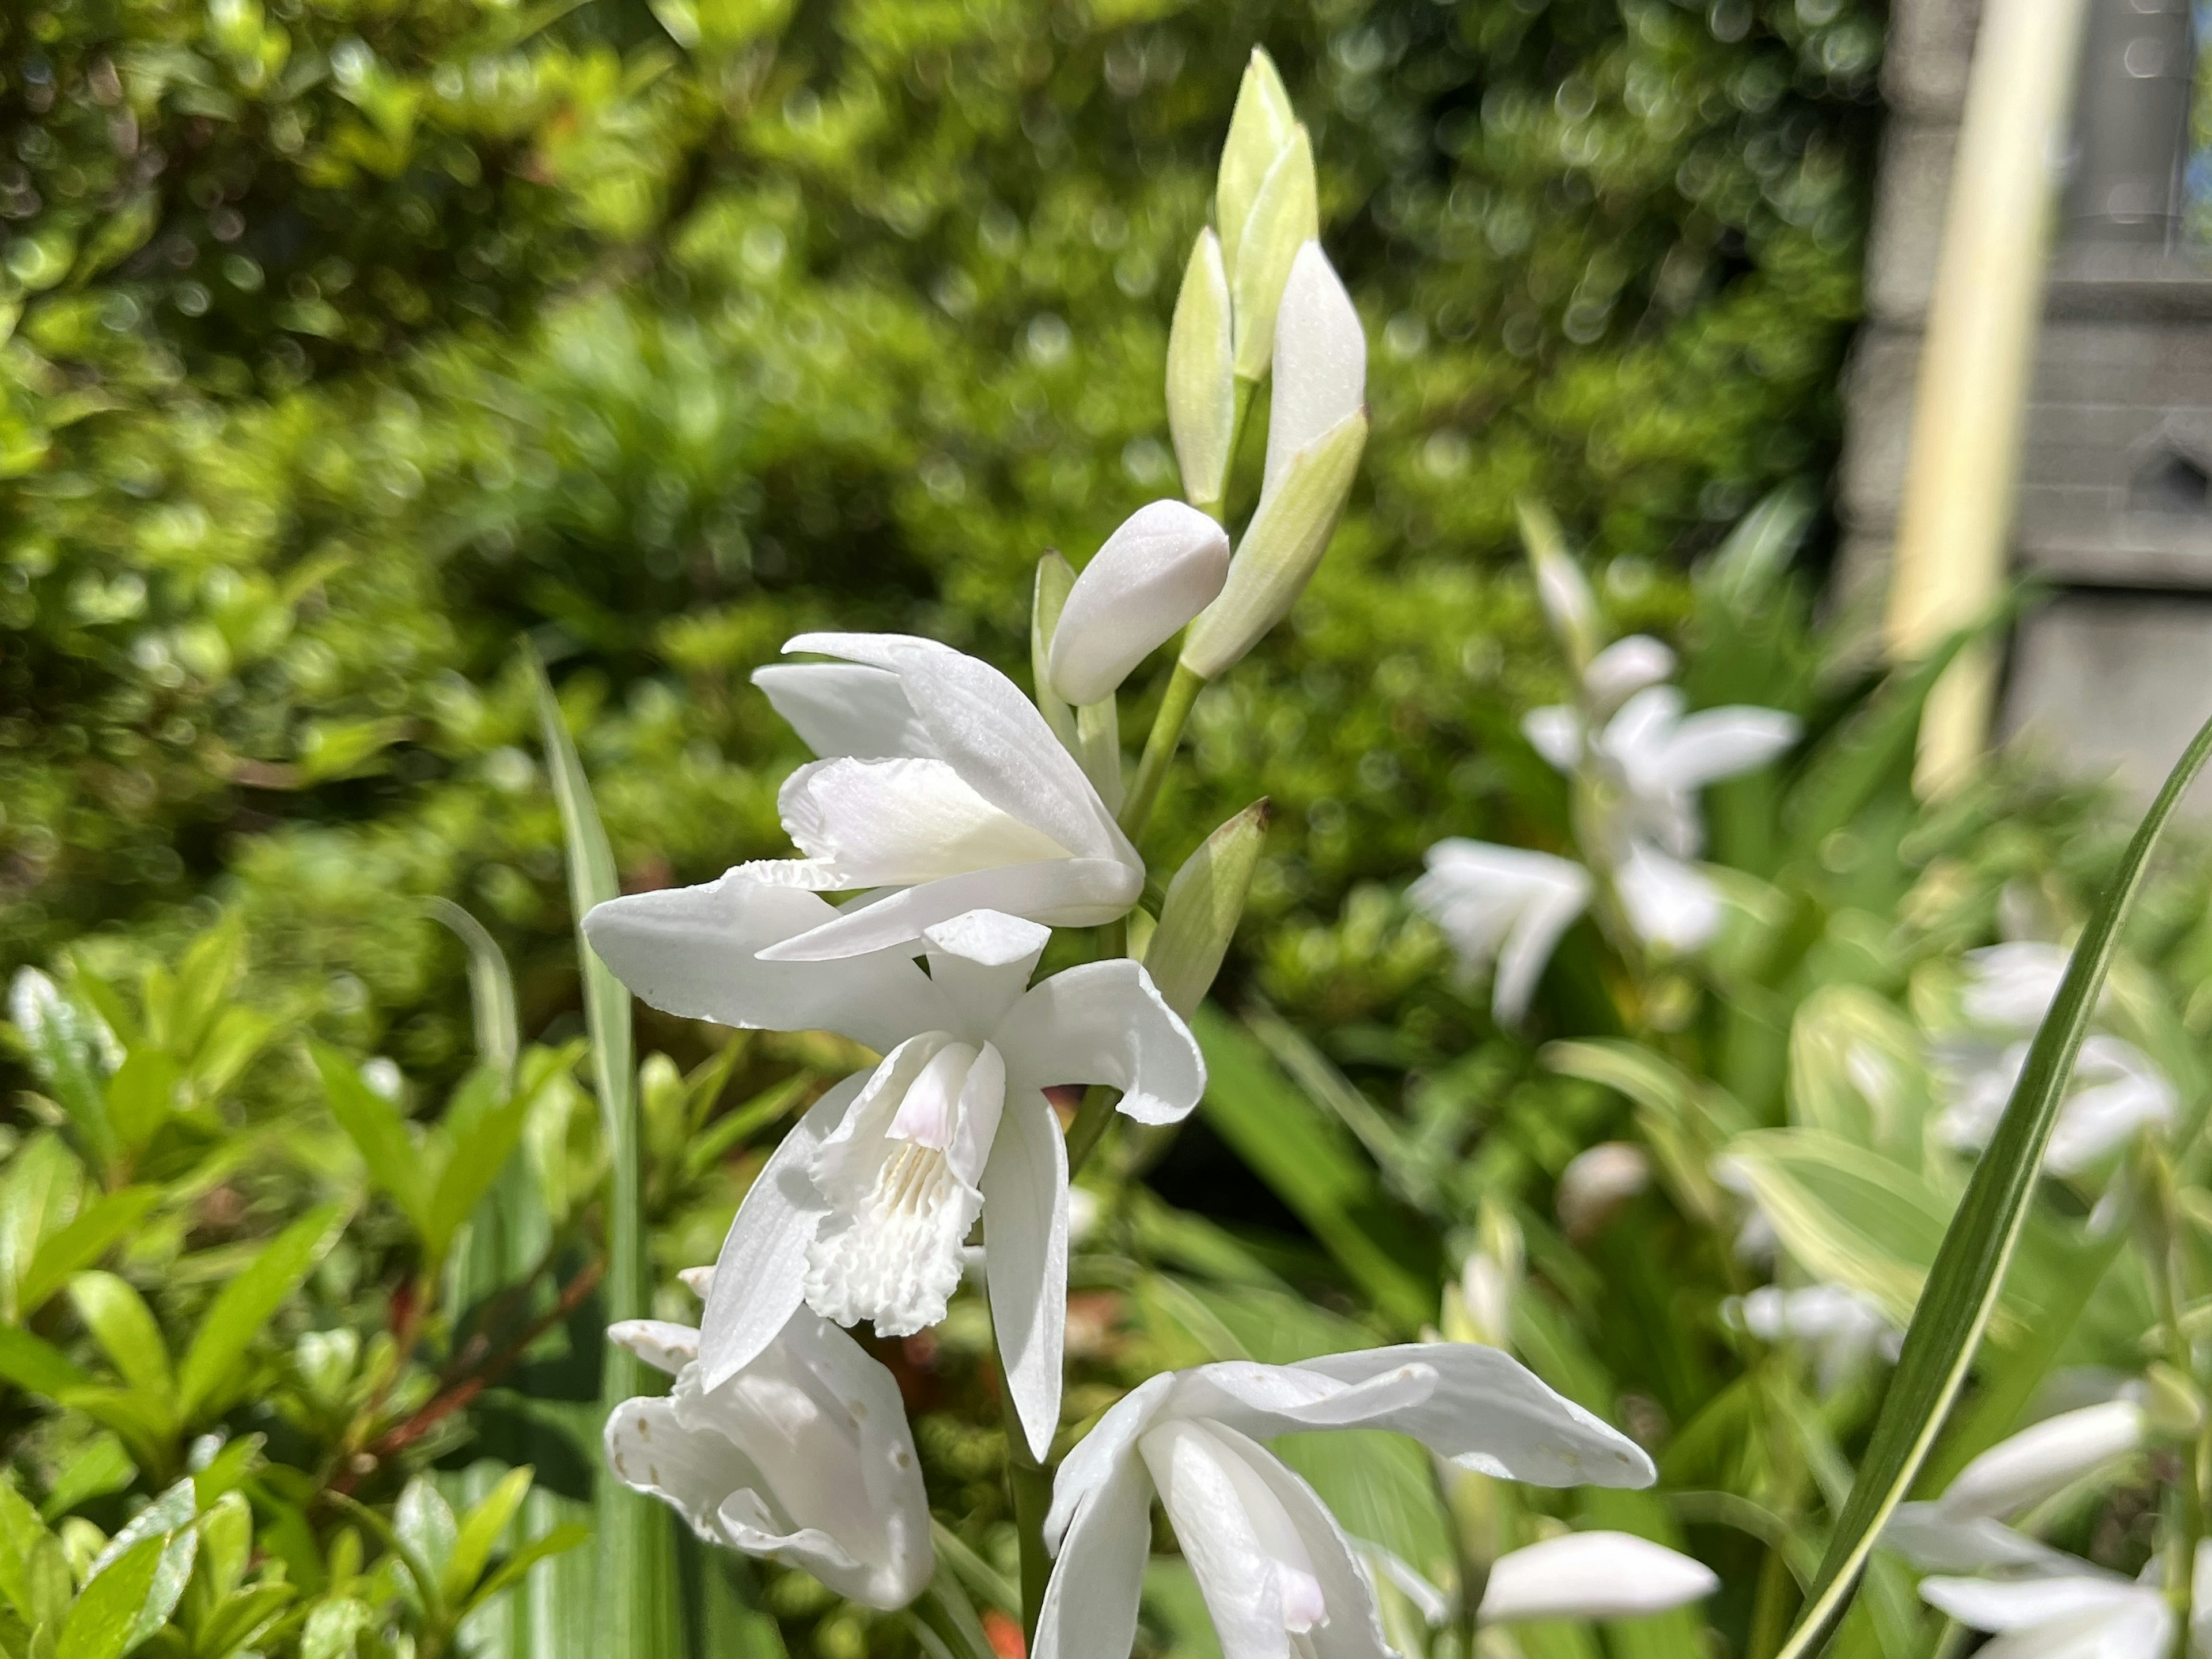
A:
POLYGON ((1635 1440, 1537 1378, 1526 1365, 1478 1343, 1409 1343, 1329 1354, 1290 1367, 1360 1383, 1400 1365, 1436 1374, 1425 1398, 1367 1418, 1438 1455, 1535 1486, 1650 1486, 1652 1460, 1635 1440))

